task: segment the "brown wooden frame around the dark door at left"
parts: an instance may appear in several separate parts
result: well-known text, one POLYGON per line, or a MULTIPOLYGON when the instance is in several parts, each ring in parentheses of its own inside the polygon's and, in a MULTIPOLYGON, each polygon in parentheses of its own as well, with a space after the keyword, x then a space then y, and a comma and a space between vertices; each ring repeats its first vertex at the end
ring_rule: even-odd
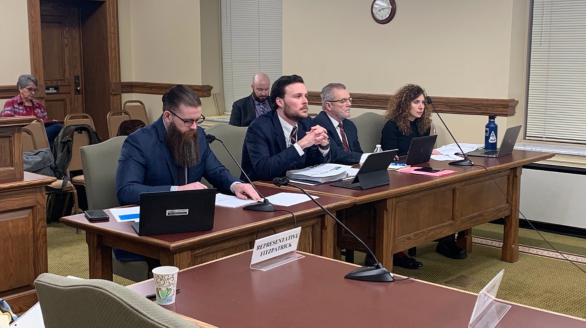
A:
MULTIPOLYGON (((54 2, 69 2, 71 0, 53 0, 54 2)), ((118 36, 118 0, 78 0, 73 2, 103 2, 105 10, 97 12, 102 15, 105 23, 107 45, 103 47, 107 52, 107 62, 104 69, 108 72, 108 83, 104 87, 107 90, 108 99, 100 104, 108 111, 121 110, 122 108, 122 85, 120 81, 120 39, 118 36)), ((40 0, 27 0, 29 18, 29 47, 30 47, 30 74, 39 81, 39 94, 36 95, 40 101, 45 101, 45 72, 43 71, 43 45, 40 26, 40 0)), ((105 114, 104 114, 105 115, 105 114)))

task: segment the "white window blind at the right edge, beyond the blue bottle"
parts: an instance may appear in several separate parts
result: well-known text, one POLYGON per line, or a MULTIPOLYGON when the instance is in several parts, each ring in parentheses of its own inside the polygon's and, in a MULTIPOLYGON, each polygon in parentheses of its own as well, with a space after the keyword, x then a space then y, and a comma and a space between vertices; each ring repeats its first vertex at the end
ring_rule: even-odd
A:
POLYGON ((584 0, 534 0, 526 138, 586 144, 584 0))

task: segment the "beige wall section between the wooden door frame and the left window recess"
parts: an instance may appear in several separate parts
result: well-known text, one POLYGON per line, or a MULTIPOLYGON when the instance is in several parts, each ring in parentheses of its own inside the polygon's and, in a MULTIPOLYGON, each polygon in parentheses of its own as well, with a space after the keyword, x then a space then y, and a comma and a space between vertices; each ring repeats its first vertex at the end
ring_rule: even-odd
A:
MULTIPOLYGON (((202 84, 199 0, 119 0, 122 81, 202 84)), ((145 103, 149 119, 161 96, 125 94, 145 103)))

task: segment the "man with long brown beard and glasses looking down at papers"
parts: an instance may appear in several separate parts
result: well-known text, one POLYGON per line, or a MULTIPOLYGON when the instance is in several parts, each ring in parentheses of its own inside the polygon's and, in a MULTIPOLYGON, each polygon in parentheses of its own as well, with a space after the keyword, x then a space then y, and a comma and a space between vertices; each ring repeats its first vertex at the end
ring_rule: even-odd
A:
POLYGON ((162 100, 161 117, 122 145, 116 172, 120 204, 138 204, 145 192, 206 189, 202 177, 224 194, 260 200, 253 187, 232 176, 210 149, 199 127, 205 117, 195 92, 178 85, 162 100))

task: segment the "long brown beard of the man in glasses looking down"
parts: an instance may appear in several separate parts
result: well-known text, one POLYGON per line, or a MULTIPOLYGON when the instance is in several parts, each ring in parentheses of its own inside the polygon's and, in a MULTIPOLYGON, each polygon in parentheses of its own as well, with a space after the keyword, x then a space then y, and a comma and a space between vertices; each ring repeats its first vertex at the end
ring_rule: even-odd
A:
POLYGON ((197 129, 181 132, 175 124, 171 123, 167 127, 165 144, 171 151, 175 165, 180 168, 190 168, 199 160, 197 129))

